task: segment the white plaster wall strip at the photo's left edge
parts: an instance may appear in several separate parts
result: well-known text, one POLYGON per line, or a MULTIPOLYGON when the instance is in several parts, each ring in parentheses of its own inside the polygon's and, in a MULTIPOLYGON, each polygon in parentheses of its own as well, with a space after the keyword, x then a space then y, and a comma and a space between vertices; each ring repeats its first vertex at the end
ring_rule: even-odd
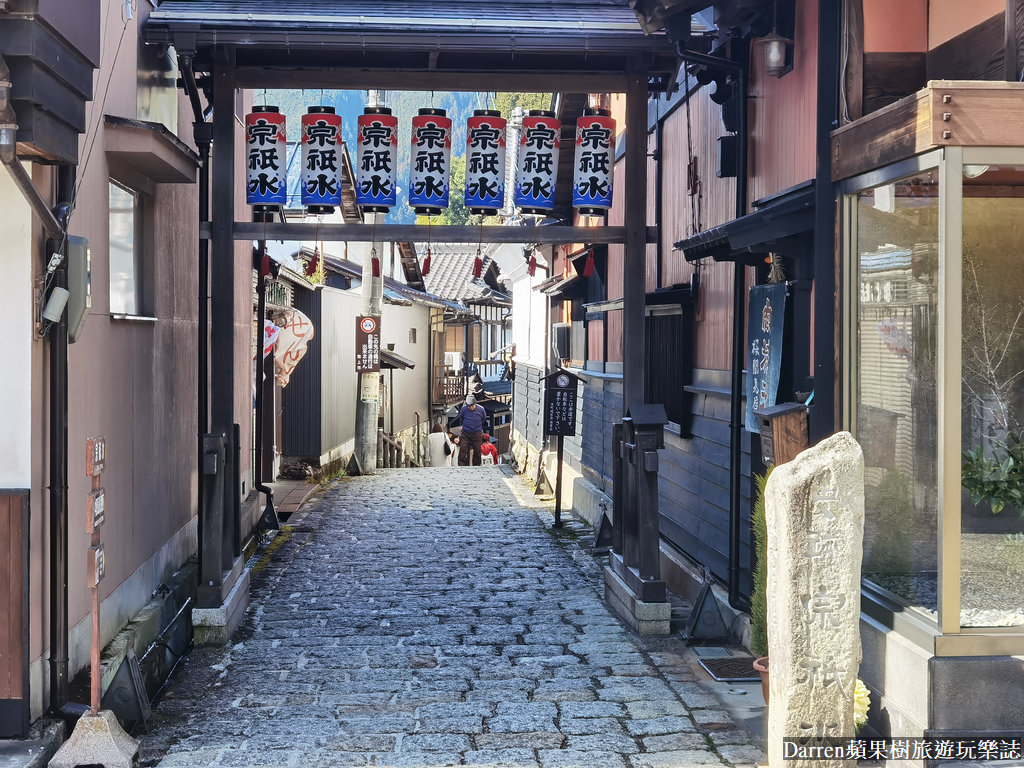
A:
MULTIPOLYGON (((31 167, 26 166, 31 174, 31 167)), ((0 168, 0 304, 5 374, 0 376, 0 487, 32 485, 32 209, 0 168)))

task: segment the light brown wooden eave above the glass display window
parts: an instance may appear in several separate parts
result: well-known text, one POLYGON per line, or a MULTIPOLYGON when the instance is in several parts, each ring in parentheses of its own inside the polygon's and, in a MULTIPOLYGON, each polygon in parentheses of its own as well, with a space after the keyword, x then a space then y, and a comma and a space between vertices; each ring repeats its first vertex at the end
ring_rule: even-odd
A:
POLYGON ((1024 83, 931 80, 831 132, 833 181, 941 146, 1019 146, 1024 83))

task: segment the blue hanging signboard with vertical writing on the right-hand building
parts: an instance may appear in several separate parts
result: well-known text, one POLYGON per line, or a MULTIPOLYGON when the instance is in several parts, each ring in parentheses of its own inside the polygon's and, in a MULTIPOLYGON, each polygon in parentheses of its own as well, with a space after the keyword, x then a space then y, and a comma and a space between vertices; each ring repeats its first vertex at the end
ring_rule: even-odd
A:
POLYGON ((775 404, 782 369, 785 283, 751 289, 746 354, 746 429, 760 433, 755 411, 775 404))

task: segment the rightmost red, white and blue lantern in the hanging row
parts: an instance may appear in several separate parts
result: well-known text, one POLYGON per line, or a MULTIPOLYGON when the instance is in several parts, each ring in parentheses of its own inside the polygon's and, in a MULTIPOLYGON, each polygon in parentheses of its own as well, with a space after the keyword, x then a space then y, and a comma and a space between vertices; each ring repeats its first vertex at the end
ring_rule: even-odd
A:
POLYGON ((600 216, 611 208, 615 163, 615 121, 608 110, 588 106, 577 121, 572 207, 600 216))

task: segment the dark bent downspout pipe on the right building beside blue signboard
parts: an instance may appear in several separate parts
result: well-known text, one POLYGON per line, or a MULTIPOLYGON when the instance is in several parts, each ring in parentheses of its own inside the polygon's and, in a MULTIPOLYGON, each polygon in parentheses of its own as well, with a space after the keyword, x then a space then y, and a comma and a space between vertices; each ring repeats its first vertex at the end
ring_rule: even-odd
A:
MULTIPOLYGON (((687 24, 688 24, 687 16, 687 24)), ((670 30, 670 36, 671 36, 670 30)), ((688 35, 688 30, 687 30, 688 35)), ((697 63, 709 69, 728 72, 736 78, 737 120, 736 133, 736 218, 746 213, 746 60, 732 61, 719 56, 689 51, 685 39, 676 40, 676 52, 687 63, 697 63)), ((732 276, 732 370, 731 395, 729 400, 729 605, 737 610, 749 611, 750 600, 739 593, 739 544, 740 544, 740 463, 742 459, 743 430, 743 326, 746 315, 745 275, 740 262, 735 262, 732 276)))

